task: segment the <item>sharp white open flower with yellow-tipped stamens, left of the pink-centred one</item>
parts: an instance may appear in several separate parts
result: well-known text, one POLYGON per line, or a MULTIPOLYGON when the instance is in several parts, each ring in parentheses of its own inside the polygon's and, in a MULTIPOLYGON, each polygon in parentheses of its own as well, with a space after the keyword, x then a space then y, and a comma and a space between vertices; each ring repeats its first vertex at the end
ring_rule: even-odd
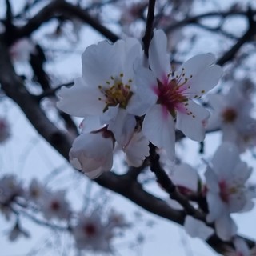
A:
POLYGON ((58 108, 74 116, 93 117, 90 122, 98 126, 91 125, 94 130, 110 125, 108 130, 119 141, 126 119, 132 119, 133 131, 134 115, 146 112, 145 106, 134 100, 134 62, 142 56, 142 46, 134 38, 87 47, 82 54, 82 78, 77 78, 74 86, 62 88, 58 108))

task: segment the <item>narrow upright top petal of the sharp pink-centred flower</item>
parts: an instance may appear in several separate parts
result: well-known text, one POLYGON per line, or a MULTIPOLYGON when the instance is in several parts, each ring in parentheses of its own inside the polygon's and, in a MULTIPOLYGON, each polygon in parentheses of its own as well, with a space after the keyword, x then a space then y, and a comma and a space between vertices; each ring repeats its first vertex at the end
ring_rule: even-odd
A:
POLYGON ((170 58, 167 54, 167 38, 162 30, 154 30, 149 48, 150 68, 160 81, 170 73, 170 58))

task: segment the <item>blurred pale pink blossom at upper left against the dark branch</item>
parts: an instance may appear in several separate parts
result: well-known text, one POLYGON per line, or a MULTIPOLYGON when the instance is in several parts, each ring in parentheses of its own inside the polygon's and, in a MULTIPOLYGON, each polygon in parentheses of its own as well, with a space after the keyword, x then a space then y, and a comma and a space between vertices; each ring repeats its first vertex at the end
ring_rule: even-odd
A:
POLYGON ((17 62, 28 62, 35 52, 34 43, 29 38, 19 39, 10 46, 10 57, 17 62))

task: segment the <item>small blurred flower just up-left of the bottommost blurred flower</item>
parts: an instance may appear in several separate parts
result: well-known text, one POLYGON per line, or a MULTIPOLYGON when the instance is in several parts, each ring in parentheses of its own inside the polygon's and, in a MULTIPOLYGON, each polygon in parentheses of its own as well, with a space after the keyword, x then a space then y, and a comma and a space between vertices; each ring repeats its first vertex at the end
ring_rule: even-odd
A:
POLYGON ((70 206, 65 198, 65 191, 48 193, 44 196, 42 214, 49 220, 51 218, 68 220, 70 218, 70 206))

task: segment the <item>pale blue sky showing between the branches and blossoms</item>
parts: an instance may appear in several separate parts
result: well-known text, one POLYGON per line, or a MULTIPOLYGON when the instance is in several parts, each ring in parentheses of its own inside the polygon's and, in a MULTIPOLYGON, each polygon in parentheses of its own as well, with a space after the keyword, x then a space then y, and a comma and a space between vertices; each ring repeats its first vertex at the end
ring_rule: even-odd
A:
MULTIPOLYGON (((15 8, 19 8, 18 5, 22 4, 22 0, 13 1, 15 2, 15 8)), ((218 4, 221 3, 221 8, 230 1, 215 1, 218 4)), ((4 0, 0 0, 0 15, 2 15, 4 0)), ((209 6, 212 8, 212 6, 209 6)), ((198 10, 200 12, 200 10, 198 10)), ((234 24, 233 24, 234 25, 234 24)), ((49 22, 47 26, 42 27, 38 33, 34 34, 34 38, 39 38, 39 42, 42 45, 47 45, 49 39, 42 38, 42 34, 48 27, 54 27, 54 22, 49 22)), ((230 26, 230 30, 232 30, 230 26)), ((239 23, 239 29, 242 30, 243 24, 239 23), (240 25, 241 24, 241 25, 240 25)), ((237 29, 237 26, 236 26, 237 29)), ((239 31, 238 31, 239 33, 239 31)), ((74 53, 67 54, 66 57, 58 57, 54 61, 50 61, 47 64, 47 70, 50 74, 57 76, 60 74, 63 77, 62 81, 56 81, 56 85, 61 82, 70 82, 73 78, 81 74, 81 53, 89 46, 91 43, 98 42, 103 38, 90 29, 89 26, 85 26, 82 30, 82 40, 74 47, 74 53)), ((199 52, 217 52, 218 45, 209 44, 210 38, 203 38, 197 49, 193 49, 191 55, 199 52)), ((51 42, 50 42, 51 43, 51 42)), ((59 40, 58 43, 52 41, 56 49, 65 49, 67 46, 66 42, 59 40)), ((48 57, 50 58, 48 53, 48 57)), ((19 72, 26 70, 29 74, 27 66, 17 66, 19 72)), ((45 102, 46 107, 50 107, 54 102, 45 102)), ((38 178, 41 181, 49 181, 48 184, 53 190, 60 188, 70 188, 72 192, 69 194, 70 200, 75 205, 76 209, 82 206, 81 194, 86 193, 86 186, 88 182, 86 178, 80 177, 76 174, 72 168, 66 163, 66 161, 59 156, 56 151, 52 150, 50 146, 42 138, 39 138, 34 131, 34 129, 26 122, 26 118, 22 112, 18 109, 14 103, 9 100, 3 100, 0 102, 0 114, 6 116, 11 126, 12 138, 5 145, 0 146, 0 175, 3 174, 15 174, 22 180, 24 184, 28 184, 31 178, 38 178), (49 176, 53 170, 56 170, 57 175, 54 177, 49 176), (49 178, 50 177, 50 178, 49 178), (80 197, 79 197, 80 196, 80 197)), ((220 141, 220 136, 218 134, 211 134, 206 141, 206 157, 214 152, 214 149, 218 146, 217 142, 220 141)), ((200 158, 197 158, 198 143, 188 142, 186 144, 187 152, 186 162, 195 163, 202 165, 200 158), (194 159, 198 159, 194 161, 194 159)), ((182 147, 179 148, 182 150, 182 147)), ((255 159, 253 159, 250 154, 244 156, 249 160, 251 166, 255 166, 255 159)), ((252 180, 256 181, 256 175, 252 180)), ((150 185, 147 189, 154 190, 154 193, 167 198, 158 186, 150 185)), ((94 189, 93 192, 94 194, 94 189)), ((96 193, 96 192, 95 192, 96 193)), ((101 198, 95 198, 98 203, 101 198)), ((144 210, 138 209, 133 203, 128 202, 125 198, 118 195, 111 195, 110 205, 118 206, 116 210, 124 211, 126 213, 126 218, 128 220, 134 219, 134 212, 140 211, 142 213, 142 221, 134 223, 134 228, 127 230, 126 238, 116 242, 117 253, 114 255, 120 256, 214 256, 212 250, 209 249, 203 242, 197 238, 190 238, 186 235, 185 231, 175 225, 172 222, 166 221, 162 218, 155 218, 153 214, 148 214, 144 210), (154 220, 155 224, 152 228, 145 225, 146 221, 154 220), (145 242, 138 247, 134 247, 130 250, 129 247, 132 242, 135 242, 135 238, 138 234, 145 234, 145 242)), ((250 238, 256 238, 256 229, 254 222, 256 220, 256 209, 250 211, 246 214, 235 214, 234 218, 237 221, 239 232, 245 234, 250 238)), ((58 244, 58 251, 56 249, 49 248, 48 242, 54 242, 55 237, 53 234, 49 234, 49 231, 45 228, 34 225, 30 221, 23 220, 21 222, 22 227, 30 231, 31 238, 20 238, 18 242, 9 242, 6 239, 6 231, 10 230, 13 223, 6 222, 2 215, 0 214, 0 256, 25 256, 25 255, 73 255, 71 252, 66 251, 67 245, 70 244, 70 240, 67 236, 62 236, 60 238, 60 244, 58 244), (34 249, 33 253, 28 254, 34 249), (66 254, 65 254, 66 251, 66 254)), ((93 253, 85 253, 82 255, 96 255, 93 253)), ((97 254, 99 255, 99 254, 97 254)))

